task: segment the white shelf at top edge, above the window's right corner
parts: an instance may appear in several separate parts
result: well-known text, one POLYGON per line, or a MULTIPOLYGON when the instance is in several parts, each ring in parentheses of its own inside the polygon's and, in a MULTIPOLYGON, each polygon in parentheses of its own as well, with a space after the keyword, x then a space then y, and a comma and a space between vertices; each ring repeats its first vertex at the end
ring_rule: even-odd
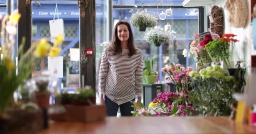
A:
POLYGON ((184 7, 199 7, 199 6, 212 6, 216 0, 184 0, 182 5, 184 7))

